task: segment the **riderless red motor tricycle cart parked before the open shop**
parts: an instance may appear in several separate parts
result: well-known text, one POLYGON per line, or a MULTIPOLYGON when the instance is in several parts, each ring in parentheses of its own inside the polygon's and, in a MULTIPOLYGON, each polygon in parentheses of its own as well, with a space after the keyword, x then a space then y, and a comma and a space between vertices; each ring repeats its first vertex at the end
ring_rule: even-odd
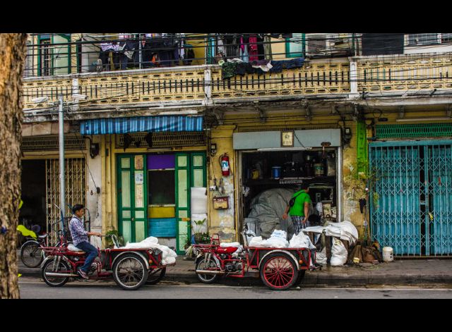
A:
POLYGON ((249 247, 246 236, 243 249, 221 247, 214 234, 210 245, 194 245, 197 253, 196 275, 203 283, 213 283, 219 276, 244 278, 249 269, 257 270, 262 282, 272 290, 287 290, 302 281, 311 267, 308 248, 249 247))

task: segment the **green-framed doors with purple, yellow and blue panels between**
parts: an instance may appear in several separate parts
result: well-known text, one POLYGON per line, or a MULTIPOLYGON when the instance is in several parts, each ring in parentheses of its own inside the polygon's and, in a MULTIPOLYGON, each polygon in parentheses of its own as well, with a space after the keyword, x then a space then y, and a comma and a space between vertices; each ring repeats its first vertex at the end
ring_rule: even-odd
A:
POLYGON ((191 187, 206 187, 206 153, 121 154, 118 165, 119 233, 125 241, 148 236, 184 253, 191 220, 191 187))

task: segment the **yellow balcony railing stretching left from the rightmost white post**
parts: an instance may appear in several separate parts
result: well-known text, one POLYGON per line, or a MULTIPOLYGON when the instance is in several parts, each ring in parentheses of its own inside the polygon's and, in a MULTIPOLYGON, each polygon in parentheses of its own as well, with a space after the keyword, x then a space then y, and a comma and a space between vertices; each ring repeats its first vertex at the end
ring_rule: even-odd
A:
POLYGON ((246 74, 222 80, 220 66, 189 66, 126 70, 119 72, 26 78, 24 109, 45 108, 58 101, 71 102, 72 94, 88 97, 81 106, 136 103, 194 102, 206 99, 300 96, 303 94, 347 94, 350 92, 349 63, 304 63, 302 68, 282 73, 246 74), (210 73, 210 80, 208 73, 210 73), (35 104, 32 99, 48 97, 35 104))

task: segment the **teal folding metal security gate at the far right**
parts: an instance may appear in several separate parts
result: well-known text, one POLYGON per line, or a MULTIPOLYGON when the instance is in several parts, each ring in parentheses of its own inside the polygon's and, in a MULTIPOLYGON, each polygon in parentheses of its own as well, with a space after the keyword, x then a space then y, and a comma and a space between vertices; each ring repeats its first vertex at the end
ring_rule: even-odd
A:
POLYGON ((373 142, 371 230, 396 256, 452 256, 452 140, 373 142))

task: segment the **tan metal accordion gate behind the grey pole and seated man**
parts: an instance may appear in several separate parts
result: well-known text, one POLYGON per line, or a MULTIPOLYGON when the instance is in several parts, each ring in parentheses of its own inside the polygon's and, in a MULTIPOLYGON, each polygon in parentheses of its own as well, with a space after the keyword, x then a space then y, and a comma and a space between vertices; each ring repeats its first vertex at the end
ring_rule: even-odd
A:
MULTIPOLYGON (((69 206, 73 204, 86 204, 85 202, 85 159, 84 158, 66 158, 64 159, 64 180, 66 181, 66 216, 71 216, 72 211, 69 206)), ((51 234, 51 242, 57 242, 58 230, 61 223, 54 225, 49 229, 49 223, 55 223, 60 220, 59 211, 59 160, 47 159, 46 169, 46 197, 47 197, 47 232, 51 234)))

